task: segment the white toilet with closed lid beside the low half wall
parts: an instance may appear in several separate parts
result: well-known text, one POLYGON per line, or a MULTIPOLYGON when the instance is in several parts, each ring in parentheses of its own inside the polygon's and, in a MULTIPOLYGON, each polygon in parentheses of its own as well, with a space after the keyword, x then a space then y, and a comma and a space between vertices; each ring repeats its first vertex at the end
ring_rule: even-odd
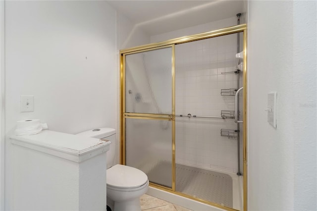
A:
POLYGON ((111 141, 110 149, 106 155, 107 207, 112 211, 141 211, 140 197, 149 188, 148 176, 137 168, 120 164, 114 165, 115 129, 100 128, 77 135, 111 141))

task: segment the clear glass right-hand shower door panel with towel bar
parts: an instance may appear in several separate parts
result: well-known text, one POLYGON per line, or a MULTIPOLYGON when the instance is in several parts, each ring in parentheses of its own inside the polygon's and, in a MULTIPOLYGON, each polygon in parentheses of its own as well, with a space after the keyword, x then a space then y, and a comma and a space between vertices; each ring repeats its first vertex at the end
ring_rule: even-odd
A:
POLYGON ((236 210, 244 173, 243 125, 235 122, 243 86, 240 33, 175 46, 175 191, 236 210))

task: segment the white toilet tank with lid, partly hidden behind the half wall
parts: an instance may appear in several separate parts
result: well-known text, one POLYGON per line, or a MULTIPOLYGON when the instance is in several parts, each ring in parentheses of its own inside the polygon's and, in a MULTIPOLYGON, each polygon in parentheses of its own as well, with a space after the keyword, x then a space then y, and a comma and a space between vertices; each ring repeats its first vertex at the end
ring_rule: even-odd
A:
POLYGON ((110 168, 112 165, 115 164, 115 129, 107 127, 96 128, 77 133, 76 135, 111 141, 109 145, 110 149, 109 151, 107 151, 106 154, 107 168, 110 168))

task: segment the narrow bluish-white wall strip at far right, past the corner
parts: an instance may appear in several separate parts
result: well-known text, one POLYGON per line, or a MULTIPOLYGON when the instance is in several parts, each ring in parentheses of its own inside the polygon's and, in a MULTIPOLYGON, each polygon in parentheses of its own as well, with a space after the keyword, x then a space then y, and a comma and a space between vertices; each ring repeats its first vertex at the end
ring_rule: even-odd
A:
POLYGON ((293 6, 294 210, 317 210, 317 2, 293 6))

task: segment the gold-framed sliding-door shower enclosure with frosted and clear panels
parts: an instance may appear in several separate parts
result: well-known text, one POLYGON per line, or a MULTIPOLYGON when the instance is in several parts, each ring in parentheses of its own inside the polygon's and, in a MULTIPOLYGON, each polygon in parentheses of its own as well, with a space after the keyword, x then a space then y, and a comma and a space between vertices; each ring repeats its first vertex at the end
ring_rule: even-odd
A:
POLYGON ((120 55, 120 163, 152 187, 246 210, 246 25, 120 55))

